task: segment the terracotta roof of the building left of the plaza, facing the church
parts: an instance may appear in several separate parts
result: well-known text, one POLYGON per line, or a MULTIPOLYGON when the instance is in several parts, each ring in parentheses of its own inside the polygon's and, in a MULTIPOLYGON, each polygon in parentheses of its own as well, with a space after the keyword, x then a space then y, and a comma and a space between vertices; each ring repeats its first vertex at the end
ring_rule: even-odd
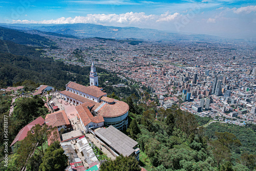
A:
POLYGON ((52 114, 46 115, 46 124, 51 126, 69 125, 70 121, 65 111, 58 111, 52 114))

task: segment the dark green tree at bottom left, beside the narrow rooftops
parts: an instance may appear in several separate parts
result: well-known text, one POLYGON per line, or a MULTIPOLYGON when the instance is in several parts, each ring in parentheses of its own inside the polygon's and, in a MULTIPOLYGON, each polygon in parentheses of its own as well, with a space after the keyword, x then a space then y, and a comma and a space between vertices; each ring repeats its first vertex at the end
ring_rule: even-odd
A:
POLYGON ((68 157, 60 147, 59 141, 51 144, 42 157, 39 171, 62 171, 68 166, 68 157))

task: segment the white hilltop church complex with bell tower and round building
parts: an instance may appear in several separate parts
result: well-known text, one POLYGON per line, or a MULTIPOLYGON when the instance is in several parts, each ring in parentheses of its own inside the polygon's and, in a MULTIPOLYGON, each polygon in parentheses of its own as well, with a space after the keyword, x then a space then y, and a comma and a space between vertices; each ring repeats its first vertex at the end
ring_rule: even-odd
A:
POLYGON ((90 86, 70 81, 66 84, 66 90, 60 92, 60 96, 61 99, 77 105, 77 116, 86 133, 103 125, 112 125, 118 130, 127 129, 129 105, 106 97, 106 93, 98 85, 98 74, 92 63, 90 86))

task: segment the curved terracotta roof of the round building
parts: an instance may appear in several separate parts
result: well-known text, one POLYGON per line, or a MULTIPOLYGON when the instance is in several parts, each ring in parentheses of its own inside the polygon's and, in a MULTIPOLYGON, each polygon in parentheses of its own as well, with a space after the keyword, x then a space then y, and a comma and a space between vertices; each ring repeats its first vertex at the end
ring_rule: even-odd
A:
MULTIPOLYGON (((95 104, 93 111, 95 111, 100 105, 104 103, 103 101, 95 104)), ((98 109, 98 115, 103 117, 118 117, 129 111, 129 105, 123 101, 114 100, 114 104, 105 103, 98 109)))

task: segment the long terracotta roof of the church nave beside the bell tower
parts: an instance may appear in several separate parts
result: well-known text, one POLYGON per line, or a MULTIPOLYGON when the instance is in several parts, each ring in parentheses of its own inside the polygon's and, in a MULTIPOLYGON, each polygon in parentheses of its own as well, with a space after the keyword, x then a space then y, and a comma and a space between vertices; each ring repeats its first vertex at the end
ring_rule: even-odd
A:
POLYGON ((100 90, 101 88, 99 88, 97 86, 86 87, 86 86, 82 86, 82 85, 80 85, 78 83, 70 81, 67 84, 67 87, 75 89, 75 90, 78 90, 80 92, 83 92, 83 93, 86 93, 86 94, 89 94, 89 95, 92 95, 94 97, 101 97, 101 96, 106 95, 106 93, 102 92, 100 90))

